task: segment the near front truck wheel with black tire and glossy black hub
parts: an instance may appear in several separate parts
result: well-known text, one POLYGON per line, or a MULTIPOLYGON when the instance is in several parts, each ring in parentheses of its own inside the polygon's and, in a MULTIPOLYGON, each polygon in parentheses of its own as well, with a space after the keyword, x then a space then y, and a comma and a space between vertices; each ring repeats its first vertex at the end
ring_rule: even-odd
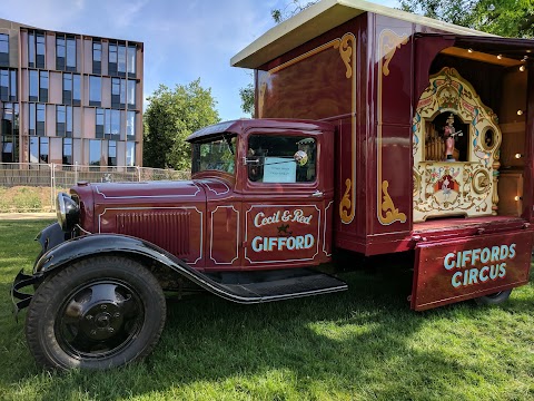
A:
POLYGON ((165 325, 156 277, 126 257, 76 262, 47 278, 31 300, 26 339, 52 369, 105 370, 147 356, 165 325))

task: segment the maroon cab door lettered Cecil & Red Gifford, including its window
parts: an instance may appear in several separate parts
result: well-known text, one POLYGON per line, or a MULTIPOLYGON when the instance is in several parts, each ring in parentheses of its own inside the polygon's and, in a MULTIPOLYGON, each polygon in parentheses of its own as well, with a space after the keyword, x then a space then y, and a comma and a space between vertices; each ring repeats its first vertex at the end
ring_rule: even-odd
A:
POLYGON ((244 268, 327 262, 334 193, 328 140, 320 131, 273 130, 249 133, 245 144, 244 268))

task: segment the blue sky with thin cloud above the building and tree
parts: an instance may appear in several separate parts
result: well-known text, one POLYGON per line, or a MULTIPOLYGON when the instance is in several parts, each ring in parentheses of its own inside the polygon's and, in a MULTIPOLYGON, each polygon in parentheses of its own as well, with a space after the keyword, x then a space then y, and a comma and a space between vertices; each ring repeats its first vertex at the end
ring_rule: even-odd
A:
MULTIPOLYGON (((373 0, 395 7, 396 0, 373 0)), ((245 116, 239 88, 250 70, 230 58, 275 23, 270 10, 289 0, 19 0, 0 18, 65 32, 142 41, 145 97, 164 84, 200 78, 211 88, 222 120, 245 116), (126 10, 126 12, 125 12, 126 10)), ((303 2, 306 2, 303 1, 303 2)))

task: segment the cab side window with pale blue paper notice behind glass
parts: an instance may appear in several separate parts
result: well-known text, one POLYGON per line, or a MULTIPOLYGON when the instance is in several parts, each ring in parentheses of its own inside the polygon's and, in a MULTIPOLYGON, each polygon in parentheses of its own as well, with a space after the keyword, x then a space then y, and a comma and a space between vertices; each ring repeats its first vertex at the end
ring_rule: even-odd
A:
POLYGON ((317 144, 307 136, 251 135, 247 148, 248 179, 255 183, 313 183, 317 144))

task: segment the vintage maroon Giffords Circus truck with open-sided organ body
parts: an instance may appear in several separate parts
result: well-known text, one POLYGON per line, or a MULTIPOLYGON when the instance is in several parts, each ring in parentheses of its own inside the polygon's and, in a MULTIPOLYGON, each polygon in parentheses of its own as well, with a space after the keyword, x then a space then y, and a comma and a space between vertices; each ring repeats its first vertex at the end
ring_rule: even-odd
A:
POLYGON ((273 28, 231 60, 255 70, 257 118, 194 133, 191 180, 59 194, 12 286, 32 354, 136 361, 159 339, 164 292, 247 304, 346 290, 333 258, 409 261, 415 311, 505 301, 533 247, 533 49, 357 0, 273 28))

